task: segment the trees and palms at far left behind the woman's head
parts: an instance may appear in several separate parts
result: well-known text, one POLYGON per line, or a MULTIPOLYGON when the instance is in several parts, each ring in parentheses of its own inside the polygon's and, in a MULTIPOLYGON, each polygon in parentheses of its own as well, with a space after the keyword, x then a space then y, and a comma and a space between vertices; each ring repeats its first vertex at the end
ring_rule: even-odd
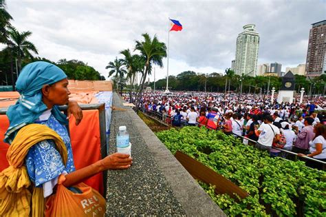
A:
POLYGON ((39 52, 34 43, 28 39, 32 32, 20 32, 10 23, 12 19, 6 8, 6 1, 0 0, 0 43, 6 45, 0 51, 0 85, 15 83, 21 69, 34 61, 47 61, 57 65, 67 74, 68 79, 105 80, 100 72, 83 61, 61 59, 54 63, 48 59, 34 56, 39 52))

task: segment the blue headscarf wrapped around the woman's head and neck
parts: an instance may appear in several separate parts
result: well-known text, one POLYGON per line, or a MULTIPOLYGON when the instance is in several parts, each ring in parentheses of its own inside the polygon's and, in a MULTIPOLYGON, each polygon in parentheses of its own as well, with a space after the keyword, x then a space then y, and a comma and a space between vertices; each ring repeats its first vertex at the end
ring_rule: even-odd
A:
MULTIPOLYGON (((43 85, 53 84, 67 78, 63 70, 52 63, 37 61, 26 65, 16 82, 16 89, 21 94, 15 105, 8 108, 7 116, 10 126, 5 134, 4 141, 12 143, 14 136, 21 127, 34 123, 47 110, 42 101, 41 89, 43 85)), ((55 105, 52 114, 63 125, 67 125, 66 116, 55 105)))

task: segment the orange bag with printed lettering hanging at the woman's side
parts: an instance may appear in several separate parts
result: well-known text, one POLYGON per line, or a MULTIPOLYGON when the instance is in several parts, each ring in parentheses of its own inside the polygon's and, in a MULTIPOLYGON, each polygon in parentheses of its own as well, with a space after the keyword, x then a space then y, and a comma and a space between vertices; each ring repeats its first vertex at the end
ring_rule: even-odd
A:
POLYGON ((82 194, 74 193, 62 183, 65 176, 58 178, 56 194, 46 200, 45 216, 104 216, 106 201, 95 189, 80 183, 74 185, 82 194))

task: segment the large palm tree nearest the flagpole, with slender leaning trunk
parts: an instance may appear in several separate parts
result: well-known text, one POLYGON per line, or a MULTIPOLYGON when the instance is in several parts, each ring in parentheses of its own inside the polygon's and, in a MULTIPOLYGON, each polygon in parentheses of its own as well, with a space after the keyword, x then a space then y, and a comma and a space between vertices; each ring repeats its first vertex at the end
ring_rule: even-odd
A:
MULTIPOLYGON (((158 41, 156 35, 154 35, 153 40, 147 33, 142 34, 142 37, 144 37, 144 41, 135 41, 135 50, 139 50, 140 54, 145 59, 145 68, 142 74, 142 79, 140 79, 139 95, 142 94, 142 91, 144 90, 147 74, 151 74, 152 65, 158 65, 162 68, 162 59, 163 57, 166 57, 166 45, 165 43, 158 41)), ((136 106, 138 109, 138 105, 136 106)))

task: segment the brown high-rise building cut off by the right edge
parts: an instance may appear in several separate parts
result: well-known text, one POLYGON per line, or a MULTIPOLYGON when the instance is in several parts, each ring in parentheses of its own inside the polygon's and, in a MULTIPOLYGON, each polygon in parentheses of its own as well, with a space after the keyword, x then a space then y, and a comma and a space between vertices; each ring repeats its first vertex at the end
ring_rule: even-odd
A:
POLYGON ((326 20, 312 23, 309 32, 307 50, 306 74, 307 76, 319 76, 326 72, 326 20))

